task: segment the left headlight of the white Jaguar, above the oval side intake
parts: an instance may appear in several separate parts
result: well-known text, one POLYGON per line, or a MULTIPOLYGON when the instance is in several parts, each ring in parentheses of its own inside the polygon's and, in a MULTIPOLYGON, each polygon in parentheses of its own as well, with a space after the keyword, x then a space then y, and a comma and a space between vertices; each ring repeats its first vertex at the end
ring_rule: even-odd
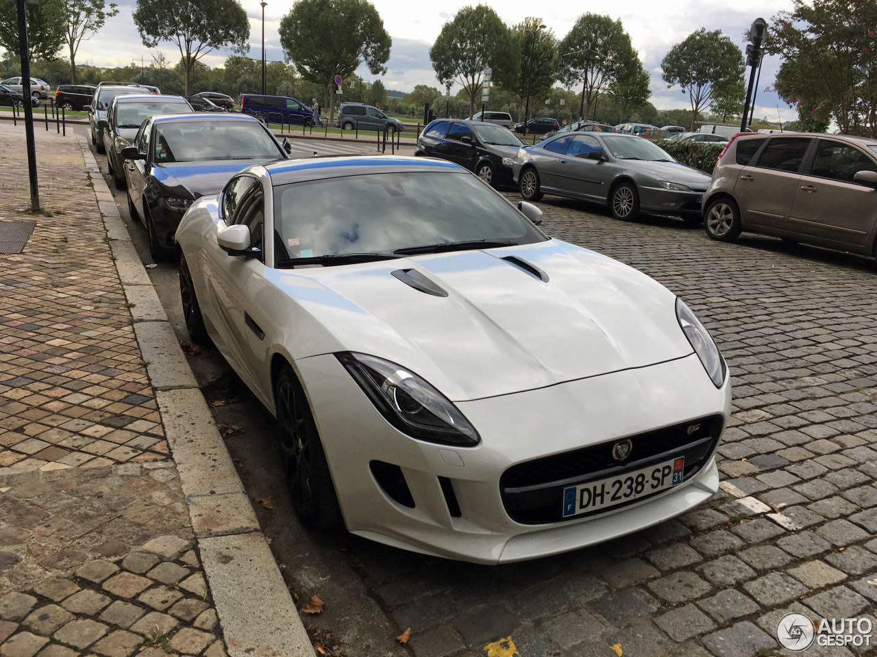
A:
POLYGON ((474 447, 481 442, 463 413, 417 374, 366 354, 346 352, 335 357, 384 419, 403 434, 455 447, 474 447))

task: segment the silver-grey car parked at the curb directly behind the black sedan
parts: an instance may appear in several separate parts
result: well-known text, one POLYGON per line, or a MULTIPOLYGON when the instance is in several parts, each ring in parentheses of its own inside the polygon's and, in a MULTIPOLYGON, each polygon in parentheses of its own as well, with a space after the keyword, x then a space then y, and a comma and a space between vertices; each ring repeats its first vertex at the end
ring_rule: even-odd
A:
POLYGON ((130 146, 141 124, 156 114, 192 111, 179 95, 117 95, 110 102, 107 117, 98 120, 107 165, 118 189, 125 189, 125 160, 122 149, 130 146))

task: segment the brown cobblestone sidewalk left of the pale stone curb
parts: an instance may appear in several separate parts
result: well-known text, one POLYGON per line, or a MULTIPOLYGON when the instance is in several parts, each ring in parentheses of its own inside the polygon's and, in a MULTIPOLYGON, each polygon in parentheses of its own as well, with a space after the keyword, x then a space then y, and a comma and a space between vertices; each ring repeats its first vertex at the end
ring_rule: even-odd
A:
MULTIPOLYGON (((5 123, 5 122, 4 122, 5 123)), ((0 655, 221 657, 175 464, 84 164, 84 142, 0 124, 0 655)), ((86 149, 87 150, 87 149, 86 149)))

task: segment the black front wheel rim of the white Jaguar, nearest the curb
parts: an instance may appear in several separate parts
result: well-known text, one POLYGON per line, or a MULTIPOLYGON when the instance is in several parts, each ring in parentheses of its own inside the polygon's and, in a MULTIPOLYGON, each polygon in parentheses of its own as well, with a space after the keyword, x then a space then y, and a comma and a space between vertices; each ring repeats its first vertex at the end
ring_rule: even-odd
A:
POLYGON ((289 381, 277 388, 277 427, 284 466, 293 502, 299 510, 307 509, 312 498, 310 485, 310 439, 296 390, 289 381))

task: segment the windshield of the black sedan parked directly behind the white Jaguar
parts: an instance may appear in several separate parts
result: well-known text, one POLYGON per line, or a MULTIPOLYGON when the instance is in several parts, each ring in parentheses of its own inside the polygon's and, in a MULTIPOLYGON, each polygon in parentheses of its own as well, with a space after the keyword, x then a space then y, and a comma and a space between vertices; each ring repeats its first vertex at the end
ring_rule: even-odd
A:
POLYGON ((185 121, 155 128, 155 162, 278 159, 280 147, 257 121, 185 121))

